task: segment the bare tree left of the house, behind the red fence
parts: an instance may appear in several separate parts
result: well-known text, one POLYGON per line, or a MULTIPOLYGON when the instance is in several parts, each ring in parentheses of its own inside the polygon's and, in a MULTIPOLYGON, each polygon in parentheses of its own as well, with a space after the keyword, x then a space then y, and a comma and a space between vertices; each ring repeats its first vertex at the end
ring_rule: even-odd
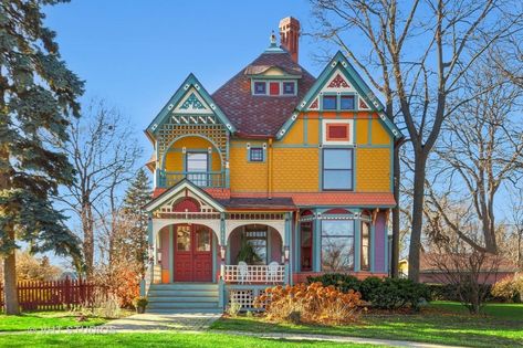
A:
POLYGON ((76 180, 59 199, 81 220, 88 276, 94 265, 95 222, 117 210, 117 192, 134 176, 142 148, 125 117, 104 101, 92 101, 70 129, 66 152, 76 180))

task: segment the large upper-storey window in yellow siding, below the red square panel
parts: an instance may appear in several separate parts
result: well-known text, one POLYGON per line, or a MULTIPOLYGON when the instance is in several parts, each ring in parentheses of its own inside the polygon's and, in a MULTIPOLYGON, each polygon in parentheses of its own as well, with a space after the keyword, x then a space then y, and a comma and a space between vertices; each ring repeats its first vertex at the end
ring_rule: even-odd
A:
POLYGON ((353 149, 323 149, 323 189, 353 189, 353 149))

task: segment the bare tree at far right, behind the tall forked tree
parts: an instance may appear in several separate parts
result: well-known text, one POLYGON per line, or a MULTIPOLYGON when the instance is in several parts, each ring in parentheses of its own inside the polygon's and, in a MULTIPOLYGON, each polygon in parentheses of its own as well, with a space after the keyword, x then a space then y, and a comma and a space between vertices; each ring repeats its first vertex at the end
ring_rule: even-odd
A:
POLYGON ((464 80, 462 89, 470 97, 458 107, 460 116, 448 118, 442 126, 443 134, 435 148, 437 159, 430 170, 438 178, 427 186, 426 203, 464 242, 496 254, 496 193, 523 176, 523 123, 519 120, 523 89, 505 81, 490 60, 485 63, 472 68, 464 80), (437 194, 438 190, 444 192, 437 194), (452 223, 448 212, 453 210, 441 204, 441 196, 452 197, 458 204, 470 204, 481 230, 479 241, 452 223))

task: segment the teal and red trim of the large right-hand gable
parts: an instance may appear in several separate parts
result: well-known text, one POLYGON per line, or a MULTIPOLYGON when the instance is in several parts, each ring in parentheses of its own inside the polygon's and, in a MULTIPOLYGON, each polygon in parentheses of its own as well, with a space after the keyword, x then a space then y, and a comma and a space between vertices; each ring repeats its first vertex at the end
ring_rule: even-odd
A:
POLYGON ((394 138, 401 138, 404 135, 396 125, 384 114, 385 106, 376 97, 370 87, 365 83, 344 54, 338 51, 331 62, 325 66, 318 78, 297 105, 293 116, 283 124, 276 134, 276 139, 283 138, 292 126, 296 117, 295 114, 304 110, 317 110, 318 98, 323 92, 336 91, 353 92, 358 94, 357 109, 376 112, 379 119, 385 124, 387 130, 394 138), (348 86, 348 87, 347 87, 348 86), (341 89, 341 91, 339 91, 341 89), (345 89, 345 91, 344 91, 345 89))

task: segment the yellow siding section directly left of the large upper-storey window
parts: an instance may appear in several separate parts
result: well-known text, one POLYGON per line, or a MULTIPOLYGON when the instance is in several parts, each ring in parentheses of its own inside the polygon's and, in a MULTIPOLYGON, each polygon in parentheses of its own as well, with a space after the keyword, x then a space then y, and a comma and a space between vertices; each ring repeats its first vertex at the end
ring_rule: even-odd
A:
POLYGON ((317 148, 275 148, 273 152, 275 192, 314 192, 318 189, 317 148))

